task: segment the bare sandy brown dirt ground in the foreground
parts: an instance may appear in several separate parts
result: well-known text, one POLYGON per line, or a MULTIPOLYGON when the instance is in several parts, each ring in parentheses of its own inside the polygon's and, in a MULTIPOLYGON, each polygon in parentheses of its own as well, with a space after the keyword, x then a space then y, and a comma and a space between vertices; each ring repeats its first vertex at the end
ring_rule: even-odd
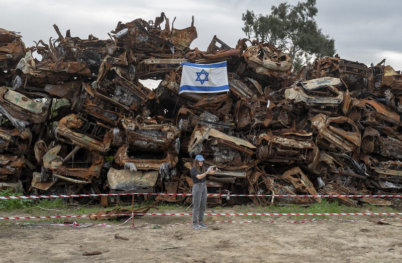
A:
MULTIPOLYGON (((150 217, 150 216, 148 216, 150 217)), ((161 228, 141 225, 164 216, 136 218, 118 227, 0 226, 1 262, 400 262, 402 221, 378 224, 367 217, 315 223, 212 223, 161 228), (115 239, 115 234, 129 240, 115 239), (82 255, 100 251, 98 255, 82 255)), ((165 216, 166 217, 166 216, 165 216)), ((189 217, 189 216, 187 216, 189 217)), ((221 218, 207 217, 206 222, 221 218), (208 219, 208 220, 207 220, 208 219)), ((377 218, 378 219, 378 218, 377 218)), ((159 221, 158 221, 159 220, 159 221)), ((184 218, 182 221, 186 220, 184 218)), ((190 218, 188 218, 190 220, 190 218)), ((221 219, 222 220, 222 219, 221 219)), ((247 221, 244 217, 224 220, 247 221)), ((259 219, 261 221, 261 219, 259 219)), ((21 222, 21 221, 19 221, 21 222)), ((29 221, 35 223, 35 221, 29 221)), ((5 222, 2 222, 5 223, 5 222)), ((109 222, 110 223, 110 222, 109 222)))

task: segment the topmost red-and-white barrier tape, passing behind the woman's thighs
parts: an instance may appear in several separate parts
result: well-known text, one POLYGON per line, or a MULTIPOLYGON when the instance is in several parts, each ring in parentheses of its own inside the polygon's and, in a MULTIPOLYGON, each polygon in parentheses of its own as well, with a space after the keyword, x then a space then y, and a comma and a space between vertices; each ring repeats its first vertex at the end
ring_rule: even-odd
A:
MULTIPOLYGON (((192 194, 164 194, 164 193, 123 193, 123 194, 79 194, 79 195, 27 195, 27 196, 0 196, 0 199, 38 199, 58 197, 93 197, 93 196, 120 196, 120 195, 177 195, 192 196, 192 194)), ((402 195, 237 195, 237 194, 207 194, 211 197, 226 196, 259 196, 259 197, 402 197, 402 195)))

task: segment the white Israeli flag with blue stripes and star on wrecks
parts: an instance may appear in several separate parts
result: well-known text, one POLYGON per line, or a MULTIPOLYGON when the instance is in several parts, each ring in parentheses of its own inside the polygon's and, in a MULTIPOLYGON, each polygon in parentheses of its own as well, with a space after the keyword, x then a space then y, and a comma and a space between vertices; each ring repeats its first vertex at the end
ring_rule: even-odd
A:
POLYGON ((215 93, 229 91, 226 61, 213 64, 181 63, 181 92, 215 93))

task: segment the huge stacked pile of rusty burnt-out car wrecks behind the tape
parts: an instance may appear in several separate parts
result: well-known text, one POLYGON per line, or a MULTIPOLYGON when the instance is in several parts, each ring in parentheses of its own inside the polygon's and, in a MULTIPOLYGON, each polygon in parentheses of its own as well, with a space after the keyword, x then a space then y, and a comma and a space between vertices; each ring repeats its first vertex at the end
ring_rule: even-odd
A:
POLYGON ((232 48, 215 36, 207 51, 190 49, 193 24, 175 29, 162 13, 155 21, 119 22, 108 40, 63 36, 54 25, 57 39, 30 48, 0 29, 2 187, 30 194, 191 193, 189 169, 202 154, 219 168, 207 177, 209 193, 402 192, 399 72, 385 61, 368 68, 335 56, 291 73, 289 56, 255 40, 232 48), (220 61, 227 61, 230 92, 178 95, 181 63, 220 61), (160 83, 151 90, 140 82, 146 79, 160 83))

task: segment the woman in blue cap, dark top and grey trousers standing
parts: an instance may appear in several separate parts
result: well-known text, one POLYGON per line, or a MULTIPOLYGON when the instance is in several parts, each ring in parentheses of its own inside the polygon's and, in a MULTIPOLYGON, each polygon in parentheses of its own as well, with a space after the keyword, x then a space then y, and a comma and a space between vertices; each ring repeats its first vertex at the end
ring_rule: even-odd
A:
POLYGON ((204 224, 204 212, 207 207, 207 185, 205 178, 207 175, 213 175, 218 171, 208 168, 206 171, 204 168, 204 157, 202 155, 195 156, 194 165, 190 170, 193 186, 192 186, 192 227, 196 230, 202 228, 208 228, 204 224), (199 223, 198 223, 199 222, 199 223))

